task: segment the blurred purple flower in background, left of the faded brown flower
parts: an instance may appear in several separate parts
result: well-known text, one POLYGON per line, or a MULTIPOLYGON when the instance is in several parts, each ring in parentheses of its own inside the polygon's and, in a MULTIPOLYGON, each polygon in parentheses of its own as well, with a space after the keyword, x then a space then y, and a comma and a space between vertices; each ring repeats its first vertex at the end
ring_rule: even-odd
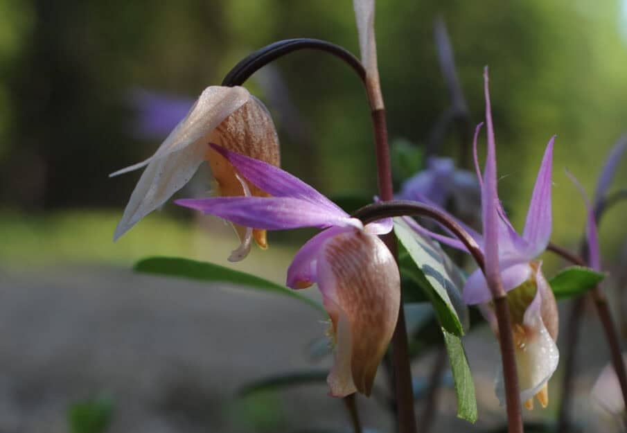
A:
POLYGON ((170 134, 194 105, 192 98, 134 89, 130 101, 137 112, 134 132, 143 139, 159 139, 170 134))

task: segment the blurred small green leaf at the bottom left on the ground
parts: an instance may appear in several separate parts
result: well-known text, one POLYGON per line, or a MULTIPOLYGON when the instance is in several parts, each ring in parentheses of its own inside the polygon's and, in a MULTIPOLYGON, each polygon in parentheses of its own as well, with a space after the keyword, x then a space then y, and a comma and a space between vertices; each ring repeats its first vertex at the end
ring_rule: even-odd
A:
POLYGON ((66 417, 71 433, 103 433, 111 424, 113 401, 103 396, 73 403, 66 417))

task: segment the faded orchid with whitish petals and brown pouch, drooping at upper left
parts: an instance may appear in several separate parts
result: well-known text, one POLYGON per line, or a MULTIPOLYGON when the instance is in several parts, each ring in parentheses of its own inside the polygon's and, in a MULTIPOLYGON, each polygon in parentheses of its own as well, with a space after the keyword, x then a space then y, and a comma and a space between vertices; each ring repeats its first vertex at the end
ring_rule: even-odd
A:
MULTIPOLYGON (((263 103, 243 87, 207 87, 152 157, 110 175, 146 167, 118 223, 114 240, 187 184, 203 161, 209 162, 218 195, 244 195, 244 184, 236 179, 233 166, 209 148, 209 142, 279 165, 279 139, 263 103)), ((267 195, 254 185, 247 187, 252 195, 267 195)), ((264 230, 238 224, 234 228, 240 247, 229 260, 247 256, 252 238, 260 247, 267 247, 264 230)))

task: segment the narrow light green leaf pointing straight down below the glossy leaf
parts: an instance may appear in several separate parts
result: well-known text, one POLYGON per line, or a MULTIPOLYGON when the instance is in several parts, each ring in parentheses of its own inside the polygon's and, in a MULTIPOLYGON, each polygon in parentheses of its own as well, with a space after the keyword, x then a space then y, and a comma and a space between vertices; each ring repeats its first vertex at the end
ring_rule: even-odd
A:
POLYGON ((469 423, 475 423, 477 421, 477 399, 466 351, 463 350, 461 338, 457 337, 457 335, 448 333, 444 328, 442 328, 442 334, 444 335, 444 344, 446 345, 450 369, 455 382, 457 416, 469 423))

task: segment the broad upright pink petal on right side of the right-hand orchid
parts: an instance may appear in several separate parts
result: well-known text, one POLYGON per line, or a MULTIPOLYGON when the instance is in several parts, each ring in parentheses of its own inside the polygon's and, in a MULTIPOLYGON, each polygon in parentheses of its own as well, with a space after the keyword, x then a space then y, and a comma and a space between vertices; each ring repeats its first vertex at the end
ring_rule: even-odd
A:
POLYGON ((522 231, 522 238, 529 243, 529 258, 536 257, 544 251, 551 238, 551 165, 554 141, 555 136, 552 136, 542 158, 536 186, 533 188, 529 203, 527 221, 522 231))

